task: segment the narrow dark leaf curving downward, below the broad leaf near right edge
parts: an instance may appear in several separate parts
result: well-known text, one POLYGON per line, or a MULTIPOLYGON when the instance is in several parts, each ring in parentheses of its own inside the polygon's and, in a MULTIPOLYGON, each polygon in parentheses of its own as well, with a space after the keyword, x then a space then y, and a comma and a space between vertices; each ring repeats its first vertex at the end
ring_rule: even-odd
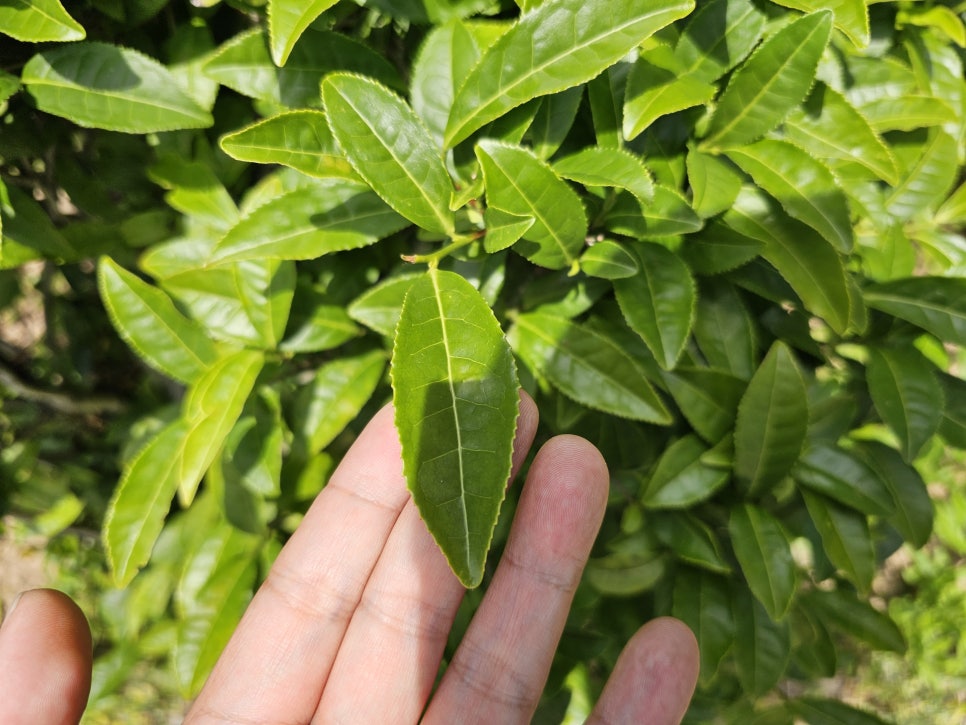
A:
POLYGON ((925 546, 932 533, 934 507, 919 472, 897 451, 875 441, 862 441, 854 452, 892 494, 895 513, 888 517, 889 523, 913 546, 925 546))

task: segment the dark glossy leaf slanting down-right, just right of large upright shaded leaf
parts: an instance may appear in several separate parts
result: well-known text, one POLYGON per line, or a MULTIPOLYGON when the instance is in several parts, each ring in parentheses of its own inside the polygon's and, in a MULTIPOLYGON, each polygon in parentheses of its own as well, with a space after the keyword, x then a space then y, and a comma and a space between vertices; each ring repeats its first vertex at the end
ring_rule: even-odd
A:
POLYGON ((792 476, 803 486, 869 515, 895 511, 892 494, 873 470, 849 451, 817 443, 802 454, 792 476))

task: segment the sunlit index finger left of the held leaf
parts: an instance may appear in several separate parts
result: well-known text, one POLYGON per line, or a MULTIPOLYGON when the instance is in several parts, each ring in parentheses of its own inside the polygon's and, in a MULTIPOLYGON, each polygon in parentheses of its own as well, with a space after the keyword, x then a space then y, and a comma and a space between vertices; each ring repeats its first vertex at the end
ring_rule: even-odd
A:
POLYGON ((286 543, 188 722, 308 722, 409 498, 391 406, 359 435, 286 543))

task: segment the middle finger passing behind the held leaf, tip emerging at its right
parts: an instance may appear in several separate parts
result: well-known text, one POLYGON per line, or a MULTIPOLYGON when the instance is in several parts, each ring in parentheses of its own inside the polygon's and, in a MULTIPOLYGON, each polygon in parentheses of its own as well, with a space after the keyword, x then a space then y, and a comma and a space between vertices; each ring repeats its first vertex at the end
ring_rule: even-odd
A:
MULTIPOLYGON (((536 405, 523 395, 514 473, 536 426, 536 405)), ((417 722, 464 591, 410 501, 352 617, 316 721, 417 722)))

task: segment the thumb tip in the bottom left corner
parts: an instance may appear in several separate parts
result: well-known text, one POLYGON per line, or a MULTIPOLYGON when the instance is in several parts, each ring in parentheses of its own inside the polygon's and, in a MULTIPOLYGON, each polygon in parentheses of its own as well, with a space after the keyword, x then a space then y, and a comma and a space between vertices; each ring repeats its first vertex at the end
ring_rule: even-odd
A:
POLYGON ((24 592, 0 627, 0 722, 77 723, 91 689, 91 630, 52 589, 24 592))

